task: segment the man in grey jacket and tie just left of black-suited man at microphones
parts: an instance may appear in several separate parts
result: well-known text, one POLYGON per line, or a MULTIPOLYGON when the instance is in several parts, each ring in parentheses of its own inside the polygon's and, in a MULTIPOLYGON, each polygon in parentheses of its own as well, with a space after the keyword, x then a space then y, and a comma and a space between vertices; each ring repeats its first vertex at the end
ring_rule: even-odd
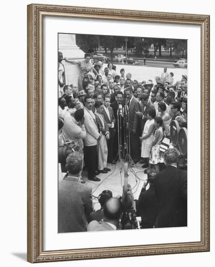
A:
POLYGON ((109 131, 109 140, 107 140, 107 150, 108 150, 108 154, 107 154, 107 162, 108 163, 113 163, 113 139, 114 139, 114 135, 115 135, 115 123, 116 123, 116 119, 114 117, 113 114, 113 109, 110 107, 110 96, 106 95, 105 99, 104 99, 104 111, 103 111, 103 115, 105 118, 105 121, 107 122, 108 125, 108 131, 109 131))

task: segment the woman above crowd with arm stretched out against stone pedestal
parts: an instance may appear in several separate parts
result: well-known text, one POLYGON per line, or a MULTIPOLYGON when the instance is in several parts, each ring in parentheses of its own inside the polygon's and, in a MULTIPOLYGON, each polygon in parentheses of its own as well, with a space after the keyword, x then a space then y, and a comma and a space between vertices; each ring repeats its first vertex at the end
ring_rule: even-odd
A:
POLYGON ((68 63, 76 63, 80 69, 80 74, 78 76, 78 90, 83 90, 83 80, 84 77, 86 77, 87 73, 94 72, 96 75, 98 75, 98 72, 95 70, 95 68, 92 66, 92 63, 90 62, 91 54, 87 53, 84 55, 84 60, 77 61, 77 60, 68 60, 65 58, 65 61, 68 63))

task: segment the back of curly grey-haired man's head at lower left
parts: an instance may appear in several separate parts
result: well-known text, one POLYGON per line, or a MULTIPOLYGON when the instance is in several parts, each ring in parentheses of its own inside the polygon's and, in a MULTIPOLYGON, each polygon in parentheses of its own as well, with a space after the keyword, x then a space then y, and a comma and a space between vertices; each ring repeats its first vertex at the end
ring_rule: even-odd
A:
POLYGON ((66 158, 66 169, 69 174, 77 174, 82 169, 83 157, 80 152, 74 151, 66 158))

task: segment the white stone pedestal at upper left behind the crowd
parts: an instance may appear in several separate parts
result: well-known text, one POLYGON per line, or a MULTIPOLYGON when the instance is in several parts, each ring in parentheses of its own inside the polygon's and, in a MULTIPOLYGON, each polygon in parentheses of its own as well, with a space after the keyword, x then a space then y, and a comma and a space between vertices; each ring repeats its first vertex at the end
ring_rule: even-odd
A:
MULTIPOLYGON (((76 34, 59 33, 58 34, 59 51, 62 52, 63 57, 68 60, 83 60, 84 52, 76 44, 76 34)), ((65 67, 66 84, 73 84, 77 86, 77 79, 80 73, 77 64, 71 64, 62 61, 65 67)))

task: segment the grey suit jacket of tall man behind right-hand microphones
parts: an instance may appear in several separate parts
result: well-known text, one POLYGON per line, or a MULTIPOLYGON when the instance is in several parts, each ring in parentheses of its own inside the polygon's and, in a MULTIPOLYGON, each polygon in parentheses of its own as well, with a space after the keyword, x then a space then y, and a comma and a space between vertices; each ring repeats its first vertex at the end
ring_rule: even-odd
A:
MULTIPOLYGON (((128 100, 125 100, 125 106, 128 104, 128 100)), ((138 112, 140 110, 139 101, 133 97, 130 101, 128 111, 129 111, 129 132, 132 133, 132 130, 137 130, 138 127, 138 116, 135 114, 135 111, 138 112)))

